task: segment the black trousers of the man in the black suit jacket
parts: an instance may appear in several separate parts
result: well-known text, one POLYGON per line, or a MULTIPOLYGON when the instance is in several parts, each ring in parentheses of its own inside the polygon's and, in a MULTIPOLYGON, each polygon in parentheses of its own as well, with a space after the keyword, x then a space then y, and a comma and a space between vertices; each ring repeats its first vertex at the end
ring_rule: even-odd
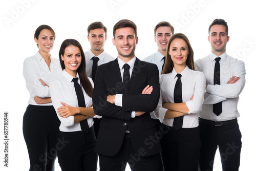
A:
POLYGON ((117 155, 110 157, 99 154, 100 171, 124 171, 128 163, 132 171, 162 171, 160 153, 143 157, 133 148, 131 138, 127 134, 117 155))

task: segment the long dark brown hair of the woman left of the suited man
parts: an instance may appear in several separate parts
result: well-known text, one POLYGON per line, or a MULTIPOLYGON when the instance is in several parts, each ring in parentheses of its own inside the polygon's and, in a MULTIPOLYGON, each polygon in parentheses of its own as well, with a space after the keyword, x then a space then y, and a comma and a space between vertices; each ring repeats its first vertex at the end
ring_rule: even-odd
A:
POLYGON ((86 73, 86 57, 83 53, 82 46, 80 45, 80 43, 77 40, 66 39, 62 42, 60 49, 59 49, 60 66, 61 66, 62 70, 65 69, 65 64, 64 64, 64 61, 61 59, 61 55, 64 56, 65 49, 71 45, 78 47, 81 51, 81 57, 82 57, 81 59, 82 60, 81 60, 80 66, 78 67, 78 69, 76 71, 80 78, 81 87, 83 88, 83 90, 86 92, 86 94, 89 97, 92 97, 93 96, 93 87, 92 87, 92 84, 91 84, 89 78, 87 77, 87 73, 86 73))

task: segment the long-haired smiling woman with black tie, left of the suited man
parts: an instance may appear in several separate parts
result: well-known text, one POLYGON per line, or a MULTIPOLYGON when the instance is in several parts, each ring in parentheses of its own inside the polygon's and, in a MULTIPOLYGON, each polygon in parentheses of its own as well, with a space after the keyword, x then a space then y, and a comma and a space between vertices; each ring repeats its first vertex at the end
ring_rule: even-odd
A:
POLYGON ((59 60, 62 75, 50 83, 53 106, 61 121, 59 138, 64 142, 58 150, 58 161, 62 171, 96 171, 96 137, 92 118, 95 116, 92 108, 94 85, 92 79, 87 77, 86 60, 79 42, 64 40, 59 60), (77 83, 78 88, 75 87, 77 83), (77 94, 78 89, 81 92, 77 94))

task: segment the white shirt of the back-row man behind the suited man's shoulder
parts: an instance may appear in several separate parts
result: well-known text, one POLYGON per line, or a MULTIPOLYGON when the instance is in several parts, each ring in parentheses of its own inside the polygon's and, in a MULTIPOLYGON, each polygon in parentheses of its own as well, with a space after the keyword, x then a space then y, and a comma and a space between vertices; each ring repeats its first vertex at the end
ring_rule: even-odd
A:
POLYGON ((157 65, 159 75, 161 75, 163 62, 164 62, 163 57, 164 57, 164 55, 162 55, 159 51, 157 51, 156 53, 154 53, 142 60, 146 61, 146 62, 150 62, 150 63, 155 63, 157 65))

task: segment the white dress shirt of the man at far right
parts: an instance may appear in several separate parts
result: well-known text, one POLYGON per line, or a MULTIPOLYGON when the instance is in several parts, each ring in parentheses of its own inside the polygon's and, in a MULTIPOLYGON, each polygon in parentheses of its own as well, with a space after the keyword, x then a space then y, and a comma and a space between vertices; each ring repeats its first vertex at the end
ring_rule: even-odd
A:
POLYGON ((208 84, 205 93, 205 100, 200 112, 200 117, 213 121, 225 121, 236 119, 240 116, 238 112, 239 95, 245 86, 245 65, 244 62, 226 53, 216 56, 214 53, 195 61, 196 69, 202 71, 208 84), (215 58, 220 60, 221 84, 214 85, 215 58), (241 77, 238 82, 227 84, 233 76, 241 77), (217 116, 212 112, 212 104, 222 101, 222 113, 217 116))

